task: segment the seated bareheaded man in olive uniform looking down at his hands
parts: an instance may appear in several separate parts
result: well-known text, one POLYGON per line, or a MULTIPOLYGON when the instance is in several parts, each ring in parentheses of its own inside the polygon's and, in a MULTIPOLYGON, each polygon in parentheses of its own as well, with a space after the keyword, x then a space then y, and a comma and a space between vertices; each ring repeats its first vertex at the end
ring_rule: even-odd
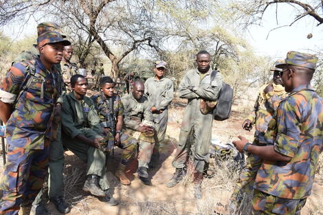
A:
POLYGON ((151 161, 151 155, 155 145, 154 137, 147 137, 146 133, 155 133, 153 128, 153 113, 151 113, 151 104, 144 95, 144 84, 137 81, 133 84, 133 92, 124 95, 121 102, 124 106, 124 124, 122 133, 133 136, 140 132, 139 137, 139 155, 138 155, 138 175, 142 182, 150 185, 148 179, 148 163, 151 161), (151 126, 142 124, 149 122, 151 126))

